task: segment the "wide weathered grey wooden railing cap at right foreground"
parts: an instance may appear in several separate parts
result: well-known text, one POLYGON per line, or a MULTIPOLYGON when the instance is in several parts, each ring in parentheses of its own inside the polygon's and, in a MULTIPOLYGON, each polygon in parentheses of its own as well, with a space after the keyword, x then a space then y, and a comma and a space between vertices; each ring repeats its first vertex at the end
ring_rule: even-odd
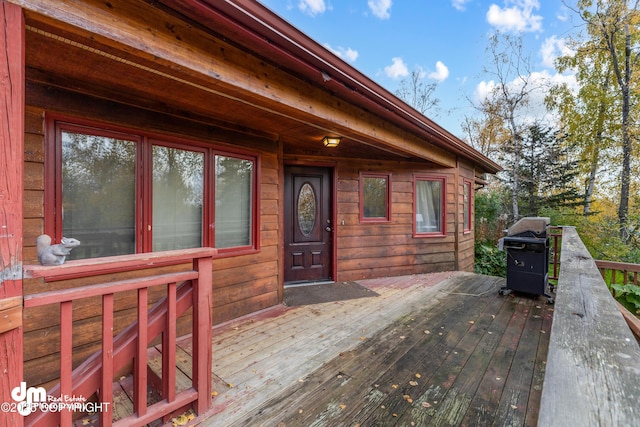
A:
POLYGON ((538 425, 636 425, 639 399, 638 342, 575 228, 564 227, 538 425))

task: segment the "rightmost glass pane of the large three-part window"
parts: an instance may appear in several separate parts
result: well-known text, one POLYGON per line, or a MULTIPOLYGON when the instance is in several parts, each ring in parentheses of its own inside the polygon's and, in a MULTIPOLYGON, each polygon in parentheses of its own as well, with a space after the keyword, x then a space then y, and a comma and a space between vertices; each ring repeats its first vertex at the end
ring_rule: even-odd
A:
POLYGON ((254 164, 216 156, 216 248, 250 246, 254 164))

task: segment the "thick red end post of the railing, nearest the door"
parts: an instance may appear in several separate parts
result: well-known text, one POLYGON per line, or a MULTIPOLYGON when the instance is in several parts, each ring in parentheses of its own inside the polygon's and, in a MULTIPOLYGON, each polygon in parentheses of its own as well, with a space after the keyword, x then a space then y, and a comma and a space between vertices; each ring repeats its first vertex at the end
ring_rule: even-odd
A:
POLYGON ((198 390, 195 410, 201 415, 211 402, 212 258, 194 259, 193 269, 198 272, 193 285, 193 382, 198 390))

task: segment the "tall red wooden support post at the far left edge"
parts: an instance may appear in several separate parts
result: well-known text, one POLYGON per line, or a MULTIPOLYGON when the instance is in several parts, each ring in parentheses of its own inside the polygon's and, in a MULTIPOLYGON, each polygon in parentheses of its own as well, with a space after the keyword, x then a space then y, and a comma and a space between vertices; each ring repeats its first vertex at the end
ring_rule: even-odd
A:
MULTIPOLYGON (((23 380, 22 199, 24 192, 25 26, 22 9, 0 0, 0 403, 23 380)), ((23 416, 0 411, 0 426, 23 416)))

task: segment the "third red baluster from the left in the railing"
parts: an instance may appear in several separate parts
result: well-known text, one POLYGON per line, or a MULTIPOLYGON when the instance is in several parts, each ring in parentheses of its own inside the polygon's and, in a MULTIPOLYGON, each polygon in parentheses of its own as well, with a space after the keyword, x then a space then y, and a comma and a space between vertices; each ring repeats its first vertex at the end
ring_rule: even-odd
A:
POLYGON ((133 411, 138 416, 147 413, 147 307, 148 289, 138 289, 138 350, 134 368, 133 397, 133 411))

